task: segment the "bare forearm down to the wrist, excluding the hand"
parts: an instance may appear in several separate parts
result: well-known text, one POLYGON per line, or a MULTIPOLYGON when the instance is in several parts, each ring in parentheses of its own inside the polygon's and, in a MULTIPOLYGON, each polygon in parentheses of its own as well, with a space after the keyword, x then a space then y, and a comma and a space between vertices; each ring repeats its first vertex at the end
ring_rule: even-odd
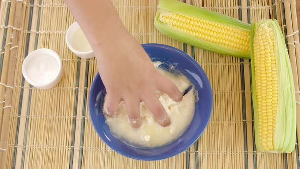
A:
POLYGON ((116 42, 124 39, 120 38, 128 36, 110 0, 65 0, 65 3, 97 53, 97 59, 102 59, 107 50, 113 50, 116 42))

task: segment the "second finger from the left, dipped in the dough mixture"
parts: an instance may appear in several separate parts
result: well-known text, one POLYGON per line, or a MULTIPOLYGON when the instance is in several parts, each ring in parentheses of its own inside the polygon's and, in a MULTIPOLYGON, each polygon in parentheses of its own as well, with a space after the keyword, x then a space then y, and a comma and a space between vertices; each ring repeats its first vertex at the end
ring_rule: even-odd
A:
POLYGON ((127 97, 125 100, 128 119, 131 123, 131 126, 138 128, 142 124, 142 119, 139 112, 139 99, 136 97, 127 97))

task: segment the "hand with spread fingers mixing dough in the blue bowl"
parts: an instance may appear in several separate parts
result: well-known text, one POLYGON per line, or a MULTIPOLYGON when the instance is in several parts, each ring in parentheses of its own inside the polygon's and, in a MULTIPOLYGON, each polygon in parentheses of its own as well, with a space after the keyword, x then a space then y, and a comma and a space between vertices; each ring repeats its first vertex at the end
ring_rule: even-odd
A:
POLYGON ((113 47, 105 47, 101 54, 105 57, 100 57, 97 63, 107 92, 106 113, 115 117, 119 102, 124 101, 131 125, 138 128, 142 123, 139 103, 143 101, 156 121, 161 126, 168 126, 170 119, 155 92, 164 92, 174 101, 181 101, 183 95, 154 67, 134 37, 129 33, 122 34, 113 47))

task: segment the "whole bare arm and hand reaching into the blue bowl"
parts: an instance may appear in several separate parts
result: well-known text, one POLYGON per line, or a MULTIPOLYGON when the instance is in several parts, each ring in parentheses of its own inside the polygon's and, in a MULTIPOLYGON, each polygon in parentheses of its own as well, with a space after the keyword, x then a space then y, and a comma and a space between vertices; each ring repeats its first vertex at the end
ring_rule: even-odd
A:
POLYGON ((176 101, 183 96, 171 80, 153 65, 140 43, 125 29, 110 0, 65 0, 93 48, 99 74, 107 92, 106 113, 117 114, 123 100, 133 127, 141 125, 139 103, 143 100, 162 126, 170 124, 156 97, 157 90, 176 101))

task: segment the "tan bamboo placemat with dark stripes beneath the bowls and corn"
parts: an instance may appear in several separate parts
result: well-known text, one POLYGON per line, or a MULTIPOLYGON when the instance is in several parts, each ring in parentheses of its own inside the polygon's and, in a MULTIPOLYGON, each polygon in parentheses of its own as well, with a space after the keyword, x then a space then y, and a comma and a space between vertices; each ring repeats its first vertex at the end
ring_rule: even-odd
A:
MULTIPOLYGON (((295 0, 186 3, 248 23, 276 18, 286 36, 300 102, 295 0)), ((112 151, 96 134, 88 114, 96 62, 77 58, 65 43, 66 31, 75 21, 66 5, 59 0, 4 0, 0 9, 0 168, 299 168, 297 145, 290 154, 256 152, 249 60, 163 36, 153 24, 158 1, 113 0, 113 4, 140 43, 182 49, 203 67, 214 95, 213 114, 205 132, 188 150, 165 160, 138 161, 112 151), (64 76, 50 90, 37 90, 22 77, 25 56, 38 48, 54 50, 63 61, 64 76)), ((300 116, 297 118, 299 122, 300 116)), ((297 127, 300 131, 299 124, 297 127)))

